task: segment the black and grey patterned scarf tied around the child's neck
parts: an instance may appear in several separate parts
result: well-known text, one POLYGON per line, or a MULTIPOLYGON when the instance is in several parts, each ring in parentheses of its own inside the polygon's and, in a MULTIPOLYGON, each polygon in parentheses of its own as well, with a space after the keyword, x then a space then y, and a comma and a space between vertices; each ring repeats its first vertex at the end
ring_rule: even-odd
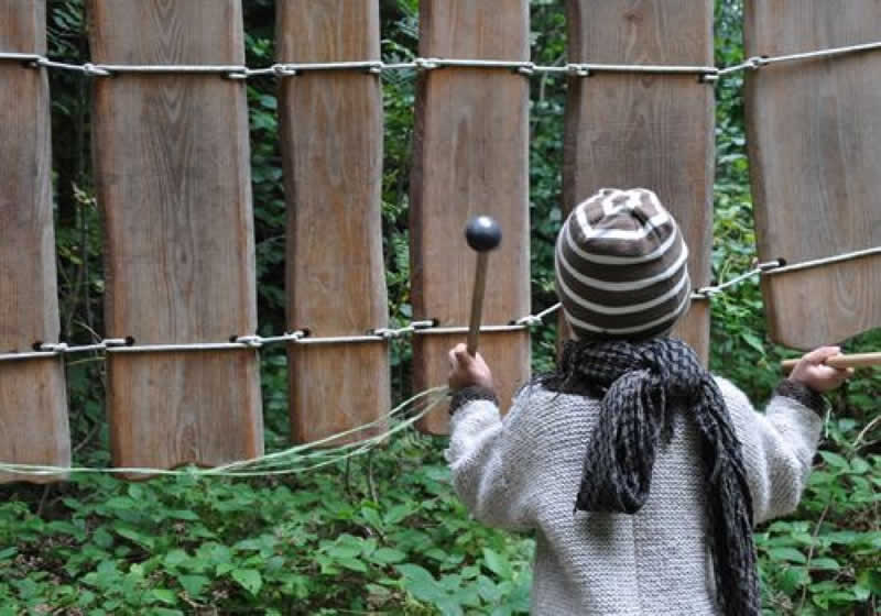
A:
POLYGON ((740 442, 718 385, 679 340, 569 342, 547 388, 601 398, 575 508, 634 514, 645 504, 659 441, 673 415, 689 413, 700 436, 708 541, 719 606, 761 614, 752 539, 752 499, 740 442))

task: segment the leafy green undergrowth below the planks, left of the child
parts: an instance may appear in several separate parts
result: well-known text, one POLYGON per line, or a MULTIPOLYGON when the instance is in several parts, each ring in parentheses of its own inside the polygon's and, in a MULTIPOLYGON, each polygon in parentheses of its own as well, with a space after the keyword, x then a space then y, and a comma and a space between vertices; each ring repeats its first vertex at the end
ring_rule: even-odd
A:
POLYGON ((42 515, 14 496, 0 504, 14 614, 529 609, 532 542, 468 519, 429 438, 282 481, 78 476, 42 515))

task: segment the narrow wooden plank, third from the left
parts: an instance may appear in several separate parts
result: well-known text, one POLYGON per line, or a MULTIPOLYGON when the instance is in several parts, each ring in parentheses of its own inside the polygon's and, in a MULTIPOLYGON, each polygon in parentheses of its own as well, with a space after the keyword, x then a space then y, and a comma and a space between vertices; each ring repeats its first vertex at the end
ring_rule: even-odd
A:
MULTIPOLYGON (((377 0, 284 0, 279 62, 379 59, 377 0)), ((287 199, 287 324, 315 337, 388 326, 382 255, 379 76, 305 73, 280 86, 287 199)), ((388 344, 291 345, 291 426, 309 442, 381 419, 391 408, 388 344)), ((384 431, 384 422, 328 442, 384 431)))

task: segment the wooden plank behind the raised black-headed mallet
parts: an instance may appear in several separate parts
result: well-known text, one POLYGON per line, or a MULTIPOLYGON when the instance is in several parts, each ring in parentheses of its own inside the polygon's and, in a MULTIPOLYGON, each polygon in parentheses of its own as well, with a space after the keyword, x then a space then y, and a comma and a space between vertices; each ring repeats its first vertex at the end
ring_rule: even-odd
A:
MULTIPOLYGON (((425 0, 420 3, 420 55, 527 61, 526 0, 425 0)), ((416 319, 467 326, 475 253, 465 226, 494 217, 501 246, 489 257, 483 322, 508 323, 530 312, 529 80, 513 72, 443 68, 420 77, 411 178, 411 264, 416 319)), ((446 384, 447 352, 466 334, 416 336, 414 387, 446 384)), ((481 336, 502 406, 529 378, 524 332, 481 336)), ((421 429, 444 433, 446 408, 421 429)))

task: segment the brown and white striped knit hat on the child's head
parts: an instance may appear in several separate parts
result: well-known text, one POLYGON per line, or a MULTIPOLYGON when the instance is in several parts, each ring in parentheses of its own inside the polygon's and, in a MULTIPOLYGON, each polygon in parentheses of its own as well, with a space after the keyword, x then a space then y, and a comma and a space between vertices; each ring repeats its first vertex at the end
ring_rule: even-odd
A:
POLYGON ((688 248, 657 196, 603 188, 557 237, 557 294, 578 339, 644 340, 688 309, 688 248))

